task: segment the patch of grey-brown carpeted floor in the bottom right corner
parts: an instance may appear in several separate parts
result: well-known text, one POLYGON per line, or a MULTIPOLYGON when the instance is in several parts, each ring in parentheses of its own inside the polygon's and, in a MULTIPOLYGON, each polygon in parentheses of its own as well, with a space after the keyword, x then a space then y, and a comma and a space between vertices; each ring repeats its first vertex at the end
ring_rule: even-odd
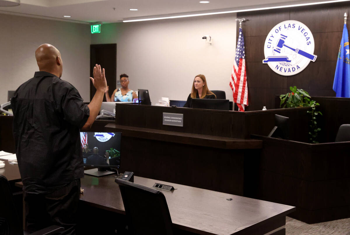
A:
POLYGON ((307 224, 286 217, 286 235, 350 235, 350 218, 307 224))

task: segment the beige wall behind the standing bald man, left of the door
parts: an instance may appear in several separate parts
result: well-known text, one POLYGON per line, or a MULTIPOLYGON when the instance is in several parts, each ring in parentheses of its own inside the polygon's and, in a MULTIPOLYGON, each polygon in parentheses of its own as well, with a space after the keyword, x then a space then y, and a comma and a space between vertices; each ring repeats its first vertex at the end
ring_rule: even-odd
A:
POLYGON ((0 103, 7 91, 38 71, 35 50, 43 43, 57 47, 63 59, 62 79, 73 84, 84 101, 90 100, 90 26, 0 14, 0 103))

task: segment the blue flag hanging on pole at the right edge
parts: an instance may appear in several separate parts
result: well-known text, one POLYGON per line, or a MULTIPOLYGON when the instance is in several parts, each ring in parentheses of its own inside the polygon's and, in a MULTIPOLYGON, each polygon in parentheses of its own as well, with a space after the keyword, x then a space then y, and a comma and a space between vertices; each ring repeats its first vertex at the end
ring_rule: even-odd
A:
POLYGON ((350 97, 350 54, 349 35, 346 24, 343 28, 343 37, 340 42, 337 67, 335 69, 333 90, 336 97, 350 97))

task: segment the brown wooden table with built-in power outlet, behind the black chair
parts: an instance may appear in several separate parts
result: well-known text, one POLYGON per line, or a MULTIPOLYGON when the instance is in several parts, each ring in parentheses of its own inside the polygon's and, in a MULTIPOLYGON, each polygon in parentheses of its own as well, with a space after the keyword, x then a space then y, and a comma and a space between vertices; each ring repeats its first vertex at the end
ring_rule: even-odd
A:
MULTIPOLYGON (((114 175, 85 175, 81 180, 84 193, 80 200, 93 207, 125 214, 114 179, 114 175)), ((172 192, 162 191, 174 227, 197 234, 285 234, 286 215, 295 210, 293 206, 137 176, 134 182, 147 187, 155 182, 174 186, 176 190, 172 192)))

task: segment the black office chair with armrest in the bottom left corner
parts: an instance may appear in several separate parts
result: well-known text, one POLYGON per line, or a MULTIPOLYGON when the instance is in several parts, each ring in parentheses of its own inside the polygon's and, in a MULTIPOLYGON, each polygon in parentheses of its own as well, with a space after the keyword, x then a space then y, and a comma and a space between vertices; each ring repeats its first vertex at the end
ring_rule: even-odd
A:
MULTIPOLYGON (((0 175, 0 234, 1 235, 27 235, 26 231, 21 229, 21 223, 16 212, 13 201, 10 184, 5 176, 0 175)), ((53 225, 31 235, 58 234, 63 228, 53 225)))

